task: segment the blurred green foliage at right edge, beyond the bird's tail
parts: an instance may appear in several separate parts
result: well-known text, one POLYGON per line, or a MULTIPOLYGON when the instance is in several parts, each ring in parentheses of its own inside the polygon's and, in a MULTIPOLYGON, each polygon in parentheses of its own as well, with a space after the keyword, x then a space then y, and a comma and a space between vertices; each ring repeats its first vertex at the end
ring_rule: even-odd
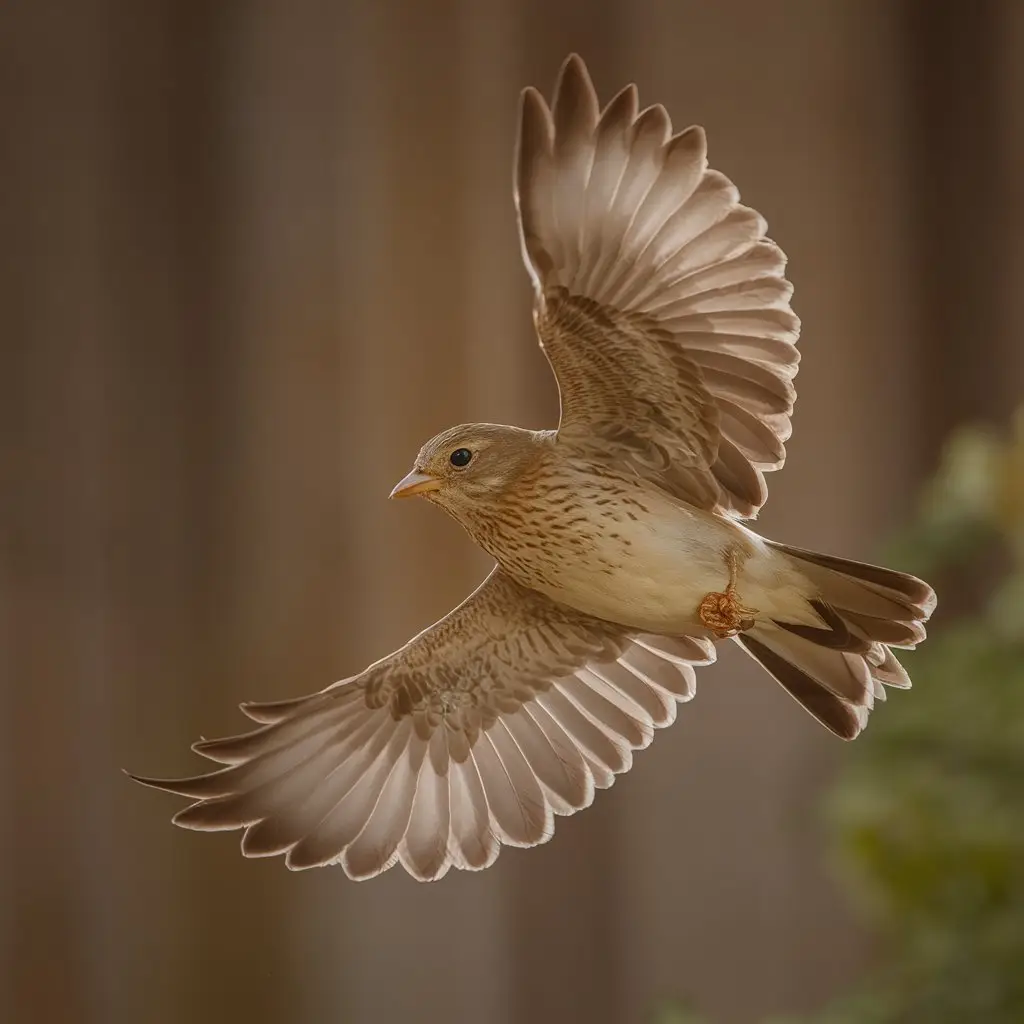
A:
POLYGON ((952 437, 886 560, 935 584, 939 609, 905 657, 913 690, 844 752, 825 804, 879 962, 814 1017, 766 1024, 1021 1024, 1024 411, 1009 437, 952 437))

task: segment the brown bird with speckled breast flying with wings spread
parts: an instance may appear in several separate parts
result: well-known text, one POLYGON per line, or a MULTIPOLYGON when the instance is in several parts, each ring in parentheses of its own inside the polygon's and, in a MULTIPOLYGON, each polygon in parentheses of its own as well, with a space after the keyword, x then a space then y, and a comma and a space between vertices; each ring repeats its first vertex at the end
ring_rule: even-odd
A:
POLYGON ((246 856, 479 869, 551 838, 694 693, 733 638, 852 739, 910 680, 932 589, 767 541, 799 321, 785 257, 634 86, 604 110, 570 56, 549 109, 522 94, 515 202, 557 430, 453 427, 392 497, 420 495, 497 565, 459 607, 311 696, 244 705, 259 728, 196 743, 225 767, 143 779, 195 801, 175 822, 244 828, 246 856))

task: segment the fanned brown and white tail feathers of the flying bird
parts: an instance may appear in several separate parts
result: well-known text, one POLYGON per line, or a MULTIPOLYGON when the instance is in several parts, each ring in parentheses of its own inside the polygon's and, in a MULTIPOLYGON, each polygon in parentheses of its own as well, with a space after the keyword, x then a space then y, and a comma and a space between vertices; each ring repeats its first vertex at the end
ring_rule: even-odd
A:
POLYGON ((915 647, 935 609, 935 591, 915 577, 772 543, 817 590, 820 626, 770 621, 736 638, 822 725, 853 739, 885 686, 910 678, 892 647, 915 647))

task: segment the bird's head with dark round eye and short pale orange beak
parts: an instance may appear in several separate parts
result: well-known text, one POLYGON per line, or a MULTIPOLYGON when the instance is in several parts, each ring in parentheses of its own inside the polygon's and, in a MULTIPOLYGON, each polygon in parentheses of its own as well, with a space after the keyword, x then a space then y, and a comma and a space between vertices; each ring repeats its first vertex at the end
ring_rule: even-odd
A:
POLYGON ((456 514, 485 506, 537 460, 546 437, 534 430, 467 423, 432 437, 420 449, 413 469, 392 498, 418 495, 456 514))

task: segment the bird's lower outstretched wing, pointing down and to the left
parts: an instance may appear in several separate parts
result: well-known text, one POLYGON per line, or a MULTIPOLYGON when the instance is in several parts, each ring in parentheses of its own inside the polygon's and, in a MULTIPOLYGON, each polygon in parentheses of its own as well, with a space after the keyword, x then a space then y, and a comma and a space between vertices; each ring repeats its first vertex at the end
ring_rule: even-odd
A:
POLYGON ((360 675, 243 705, 254 732, 196 743, 228 767, 138 779, 197 803, 177 824, 245 828, 247 856, 418 879, 550 839, 694 692, 706 640, 630 636, 496 568, 458 608, 360 675))

